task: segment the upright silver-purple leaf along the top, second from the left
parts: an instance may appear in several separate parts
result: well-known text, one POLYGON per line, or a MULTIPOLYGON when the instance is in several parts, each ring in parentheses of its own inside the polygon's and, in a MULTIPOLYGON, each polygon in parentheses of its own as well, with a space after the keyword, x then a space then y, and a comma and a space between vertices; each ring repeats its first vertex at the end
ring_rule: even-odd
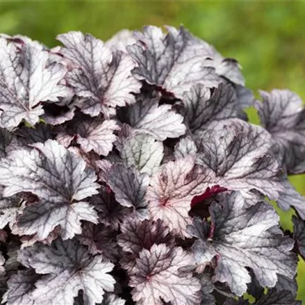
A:
POLYGON ((132 75, 135 63, 127 53, 112 52, 90 34, 69 32, 58 35, 65 57, 79 67, 67 74, 76 96, 83 98, 81 110, 91 116, 115 115, 115 108, 133 104, 131 92, 140 92, 140 82, 132 75))

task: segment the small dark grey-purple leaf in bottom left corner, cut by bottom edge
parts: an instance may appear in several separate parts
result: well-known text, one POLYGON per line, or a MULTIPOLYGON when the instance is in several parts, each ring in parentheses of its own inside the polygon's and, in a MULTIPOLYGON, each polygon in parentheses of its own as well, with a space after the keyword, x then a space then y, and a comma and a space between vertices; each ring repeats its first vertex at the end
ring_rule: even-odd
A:
POLYGON ((39 274, 33 270, 19 270, 8 279, 8 290, 6 292, 6 304, 8 305, 34 305, 31 297, 35 287, 35 281, 40 279, 39 274))

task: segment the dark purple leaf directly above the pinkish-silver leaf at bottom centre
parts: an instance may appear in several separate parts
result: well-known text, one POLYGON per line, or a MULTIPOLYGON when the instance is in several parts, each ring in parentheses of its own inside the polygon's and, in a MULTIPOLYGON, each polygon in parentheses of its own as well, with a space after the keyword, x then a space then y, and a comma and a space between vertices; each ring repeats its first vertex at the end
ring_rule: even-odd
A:
POLYGON ((172 245, 173 236, 161 220, 130 220, 123 222, 122 233, 117 236, 117 243, 125 252, 138 256, 142 249, 150 249, 154 244, 172 245))

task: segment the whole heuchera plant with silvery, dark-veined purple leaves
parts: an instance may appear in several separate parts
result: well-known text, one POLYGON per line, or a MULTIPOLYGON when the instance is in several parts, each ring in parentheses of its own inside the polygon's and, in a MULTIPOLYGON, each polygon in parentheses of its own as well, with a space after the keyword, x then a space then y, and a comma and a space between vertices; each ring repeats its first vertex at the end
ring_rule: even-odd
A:
POLYGON ((301 304, 297 94, 183 27, 58 40, 0 38, 2 303, 301 304))

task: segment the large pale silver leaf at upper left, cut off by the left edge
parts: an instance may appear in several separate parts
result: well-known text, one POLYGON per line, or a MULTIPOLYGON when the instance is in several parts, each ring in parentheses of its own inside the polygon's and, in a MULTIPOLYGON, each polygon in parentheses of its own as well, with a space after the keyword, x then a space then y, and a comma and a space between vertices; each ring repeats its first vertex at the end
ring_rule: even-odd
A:
POLYGON ((0 38, 0 124, 6 128, 24 119, 36 124, 44 113, 42 101, 58 101, 71 89, 60 81, 67 70, 63 65, 47 67, 49 54, 32 44, 16 46, 0 38))

